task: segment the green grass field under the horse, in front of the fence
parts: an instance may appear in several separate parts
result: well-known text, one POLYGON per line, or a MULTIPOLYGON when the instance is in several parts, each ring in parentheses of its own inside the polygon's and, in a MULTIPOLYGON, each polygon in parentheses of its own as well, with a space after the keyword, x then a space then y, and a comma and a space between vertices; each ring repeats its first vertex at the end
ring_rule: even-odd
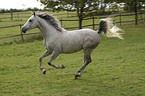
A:
POLYGON ((39 70, 42 40, 0 45, 0 96, 145 96, 145 25, 125 30, 124 40, 101 36, 92 62, 82 77, 74 74, 83 52, 62 54, 53 61, 65 69, 47 65, 39 70))

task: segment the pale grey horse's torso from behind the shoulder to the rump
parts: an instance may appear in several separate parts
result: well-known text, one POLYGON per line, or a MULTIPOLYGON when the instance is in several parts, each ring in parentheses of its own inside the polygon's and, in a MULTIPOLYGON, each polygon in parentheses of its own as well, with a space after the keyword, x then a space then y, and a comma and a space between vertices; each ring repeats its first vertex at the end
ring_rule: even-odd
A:
POLYGON ((63 35, 63 52, 76 52, 86 47, 95 47, 100 42, 99 34, 91 29, 67 31, 63 35))

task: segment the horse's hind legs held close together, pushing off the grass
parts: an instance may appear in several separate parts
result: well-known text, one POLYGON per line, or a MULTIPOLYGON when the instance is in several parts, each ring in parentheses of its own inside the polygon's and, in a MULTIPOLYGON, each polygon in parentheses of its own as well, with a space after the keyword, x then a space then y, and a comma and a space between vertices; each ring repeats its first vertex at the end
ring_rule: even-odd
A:
POLYGON ((84 63, 83 65, 78 69, 78 71, 75 74, 75 79, 78 79, 78 77, 81 77, 81 74, 85 67, 92 61, 91 60, 91 52, 92 50, 84 50, 84 63))

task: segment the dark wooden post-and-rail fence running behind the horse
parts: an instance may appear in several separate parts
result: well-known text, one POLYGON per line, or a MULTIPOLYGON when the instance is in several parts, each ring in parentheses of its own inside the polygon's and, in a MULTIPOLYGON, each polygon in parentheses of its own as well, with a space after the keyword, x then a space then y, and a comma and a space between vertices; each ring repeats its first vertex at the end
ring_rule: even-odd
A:
MULTIPOLYGON (((119 20, 118 20, 118 22, 115 22, 115 23, 119 23, 120 25, 122 25, 122 23, 136 22, 135 20, 125 20, 125 21, 124 21, 124 20, 122 19, 124 16, 134 16, 134 15, 135 15, 135 14, 117 14, 117 15, 112 15, 112 16, 113 16, 113 17, 118 17, 119 20)), ((145 14, 139 13, 139 15, 140 15, 140 18, 138 19, 138 21, 141 21, 142 23, 144 23, 144 22, 145 22, 145 14), (144 16, 143 16, 143 15, 144 15, 144 16)), ((27 16, 27 17, 28 17, 28 16, 27 16)), ((90 26, 92 26, 92 29, 94 30, 94 29, 95 29, 95 26, 98 26, 98 25, 99 25, 99 24, 96 24, 96 23, 95 23, 95 20, 96 20, 96 19, 106 18, 106 17, 108 17, 108 16, 101 16, 101 17, 100 17, 100 16, 92 16, 92 17, 83 19, 83 21, 85 21, 85 20, 91 20, 92 23, 91 23, 91 24, 88 24, 88 25, 83 25, 82 27, 90 27, 90 26)), ((11 18, 13 18, 13 17, 11 17, 11 18)), ((70 21, 71 21, 71 22, 78 22, 78 20, 62 20, 62 19, 61 19, 61 20, 60 20, 61 26, 63 26, 63 22, 70 22, 70 21)), ((20 29, 20 34, 18 34, 18 35, 6 36, 6 37, 0 37, 0 39, 21 36, 22 41, 24 41, 23 35, 31 35, 31 34, 38 34, 38 33, 40 33, 40 32, 35 32, 35 33, 23 34, 23 33, 21 32, 21 25, 22 25, 22 24, 0 27, 0 29, 3 29, 3 28, 12 28, 12 27, 19 27, 19 29, 20 29)), ((65 29, 78 29, 78 26, 76 26, 76 27, 66 27, 65 29)))

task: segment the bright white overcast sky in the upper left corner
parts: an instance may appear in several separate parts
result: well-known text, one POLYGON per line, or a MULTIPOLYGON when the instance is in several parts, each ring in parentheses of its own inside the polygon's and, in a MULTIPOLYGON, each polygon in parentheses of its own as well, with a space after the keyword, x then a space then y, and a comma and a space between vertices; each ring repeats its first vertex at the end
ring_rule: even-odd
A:
POLYGON ((44 8, 37 0, 0 0, 0 9, 27 9, 34 7, 44 8))

